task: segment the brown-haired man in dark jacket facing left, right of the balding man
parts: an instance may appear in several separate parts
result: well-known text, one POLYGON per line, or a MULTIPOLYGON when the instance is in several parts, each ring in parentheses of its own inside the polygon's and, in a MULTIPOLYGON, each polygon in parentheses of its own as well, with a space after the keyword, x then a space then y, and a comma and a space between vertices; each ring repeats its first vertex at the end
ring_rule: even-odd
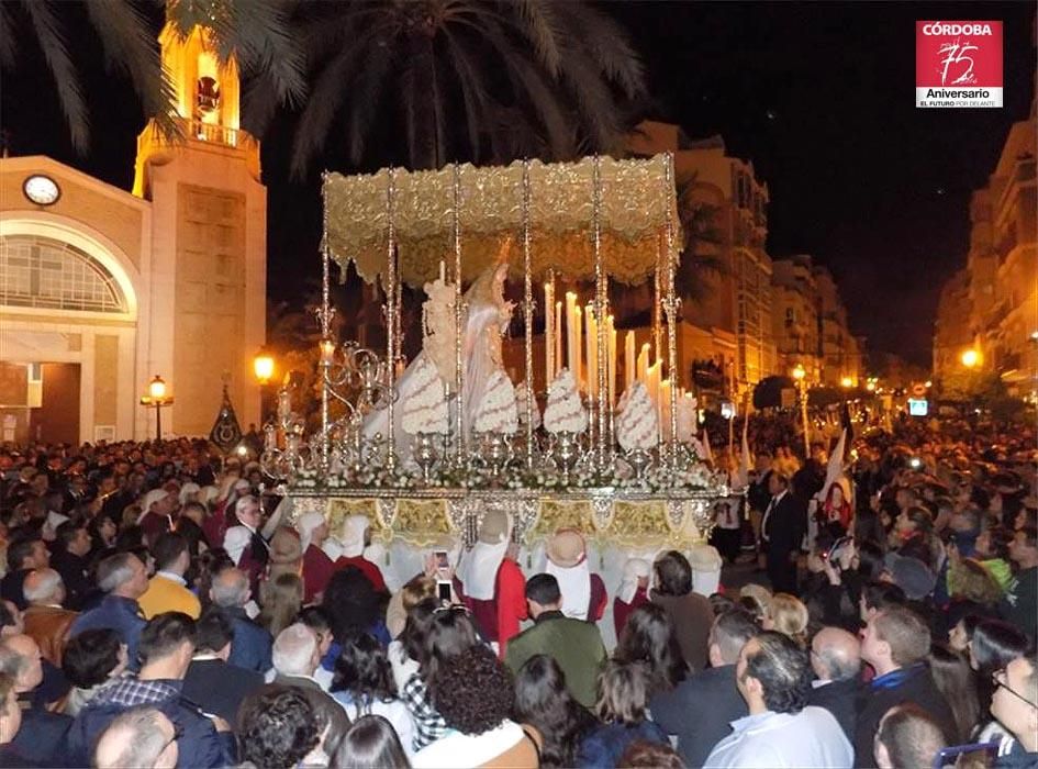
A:
POLYGON ((875 678, 859 693, 855 766, 872 766, 880 720, 904 702, 929 713, 946 735, 957 733, 951 709, 926 665, 929 650, 929 627, 911 610, 892 606, 869 620, 861 636, 861 658, 873 667, 875 678))

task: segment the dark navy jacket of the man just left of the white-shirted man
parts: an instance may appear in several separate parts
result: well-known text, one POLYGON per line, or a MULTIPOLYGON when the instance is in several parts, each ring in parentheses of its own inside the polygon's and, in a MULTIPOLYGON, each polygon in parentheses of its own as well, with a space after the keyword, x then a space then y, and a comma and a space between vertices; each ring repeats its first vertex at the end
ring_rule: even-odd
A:
POLYGON ((706 668, 649 702, 652 721, 678 737, 685 766, 701 767, 714 746, 732 732, 732 722, 749 711, 735 686, 735 666, 706 668))

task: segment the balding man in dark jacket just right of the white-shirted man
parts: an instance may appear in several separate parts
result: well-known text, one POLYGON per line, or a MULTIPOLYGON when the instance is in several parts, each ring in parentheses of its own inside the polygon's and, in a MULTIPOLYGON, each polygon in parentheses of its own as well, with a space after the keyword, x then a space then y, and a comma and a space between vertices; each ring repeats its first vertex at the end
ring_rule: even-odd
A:
POLYGON ((861 642, 841 627, 823 627, 811 640, 811 682, 807 704, 825 707, 853 742, 861 683, 861 642))

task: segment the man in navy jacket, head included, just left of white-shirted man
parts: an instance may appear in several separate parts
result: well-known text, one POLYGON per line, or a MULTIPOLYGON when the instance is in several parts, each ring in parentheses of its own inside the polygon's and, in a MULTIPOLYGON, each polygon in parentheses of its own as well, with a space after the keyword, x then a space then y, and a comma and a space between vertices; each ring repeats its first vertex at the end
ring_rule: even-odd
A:
POLYGON ((732 732, 730 723, 748 714, 735 684, 735 665, 743 646, 759 632, 752 617, 740 609, 721 614, 710 629, 711 667, 649 702, 652 721, 678 737, 678 753, 685 766, 703 766, 714 745, 732 732))

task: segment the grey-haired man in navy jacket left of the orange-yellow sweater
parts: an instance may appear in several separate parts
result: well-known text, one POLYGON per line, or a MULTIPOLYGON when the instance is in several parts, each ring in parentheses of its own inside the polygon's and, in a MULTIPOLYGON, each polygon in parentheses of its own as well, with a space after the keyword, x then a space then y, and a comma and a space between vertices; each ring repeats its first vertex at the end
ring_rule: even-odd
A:
POLYGON ((69 636, 83 631, 115 631, 126 645, 130 667, 136 670, 137 644, 146 624, 137 599, 148 589, 147 569, 132 553, 116 553, 98 565, 98 587, 108 594, 96 609, 76 617, 69 636))

